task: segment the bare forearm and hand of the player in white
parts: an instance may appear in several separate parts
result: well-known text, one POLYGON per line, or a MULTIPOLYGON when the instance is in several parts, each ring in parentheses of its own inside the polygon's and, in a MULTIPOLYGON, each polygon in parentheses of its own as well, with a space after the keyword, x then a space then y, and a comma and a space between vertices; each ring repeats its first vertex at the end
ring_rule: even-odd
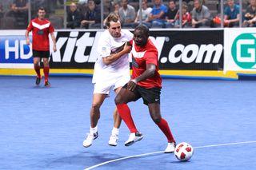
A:
MULTIPOLYGON (((102 57, 102 61, 104 62, 105 65, 110 65, 114 61, 117 61, 120 57, 122 57, 126 53, 130 53, 131 46, 126 44, 124 45, 123 49, 117 53, 110 54, 110 56, 107 57, 102 57)), ((118 50, 117 50, 118 51, 118 50)))

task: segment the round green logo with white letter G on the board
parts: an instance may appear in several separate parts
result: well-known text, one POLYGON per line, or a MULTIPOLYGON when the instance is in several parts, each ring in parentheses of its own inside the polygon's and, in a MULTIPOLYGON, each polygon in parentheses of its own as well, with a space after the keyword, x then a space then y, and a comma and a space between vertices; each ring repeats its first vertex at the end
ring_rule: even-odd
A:
POLYGON ((256 69, 256 34, 240 34, 234 39, 231 53, 242 69, 256 69))

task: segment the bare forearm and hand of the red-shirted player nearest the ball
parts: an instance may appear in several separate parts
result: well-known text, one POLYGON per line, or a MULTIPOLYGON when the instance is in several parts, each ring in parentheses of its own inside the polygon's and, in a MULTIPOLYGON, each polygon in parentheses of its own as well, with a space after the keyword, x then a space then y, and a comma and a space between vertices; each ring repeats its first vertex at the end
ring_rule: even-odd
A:
POLYGON ((142 73, 140 76, 138 76, 134 79, 131 79, 128 82, 127 89, 130 89, 131 91, 133 91, 139 81, 143 81, 143 80, 146 80, 149 77, 154 76, 155 67, 156 66, 154 64, 147 64, 146 65, 146 71, 144 73, 142 73))

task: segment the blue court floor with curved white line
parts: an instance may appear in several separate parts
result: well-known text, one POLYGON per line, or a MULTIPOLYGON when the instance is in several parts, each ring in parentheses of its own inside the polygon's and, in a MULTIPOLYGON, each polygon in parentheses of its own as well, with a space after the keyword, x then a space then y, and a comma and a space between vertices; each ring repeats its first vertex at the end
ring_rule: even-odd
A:
POLYGON ((256 167, 256 82, 163 79, 161 111, 175 140, 194 147, 188 162, 165 154, 166 137, 151 121, 142 100, 130 103, 143 140, 124 146, 122 123, 117 147, 108 145, 114 93, 101 108, 99 137, 82 141, 90 128, 90 77, 0 77, 0 169, 254 169, 256 167))

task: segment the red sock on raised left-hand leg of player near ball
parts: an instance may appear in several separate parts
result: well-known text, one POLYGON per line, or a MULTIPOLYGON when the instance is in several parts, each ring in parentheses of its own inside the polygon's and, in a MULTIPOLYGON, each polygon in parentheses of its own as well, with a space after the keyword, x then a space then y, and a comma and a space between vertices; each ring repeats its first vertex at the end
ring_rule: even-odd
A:
POLYGON ((120 117, 122 117, 122 120, 126 123, 128 128, 130 129, 130 132, 137 132, 137 128, 134 125, 134 120, 130 115, 130 109, 127 104, 119 104, 117 105, 118 113, 120 117))

